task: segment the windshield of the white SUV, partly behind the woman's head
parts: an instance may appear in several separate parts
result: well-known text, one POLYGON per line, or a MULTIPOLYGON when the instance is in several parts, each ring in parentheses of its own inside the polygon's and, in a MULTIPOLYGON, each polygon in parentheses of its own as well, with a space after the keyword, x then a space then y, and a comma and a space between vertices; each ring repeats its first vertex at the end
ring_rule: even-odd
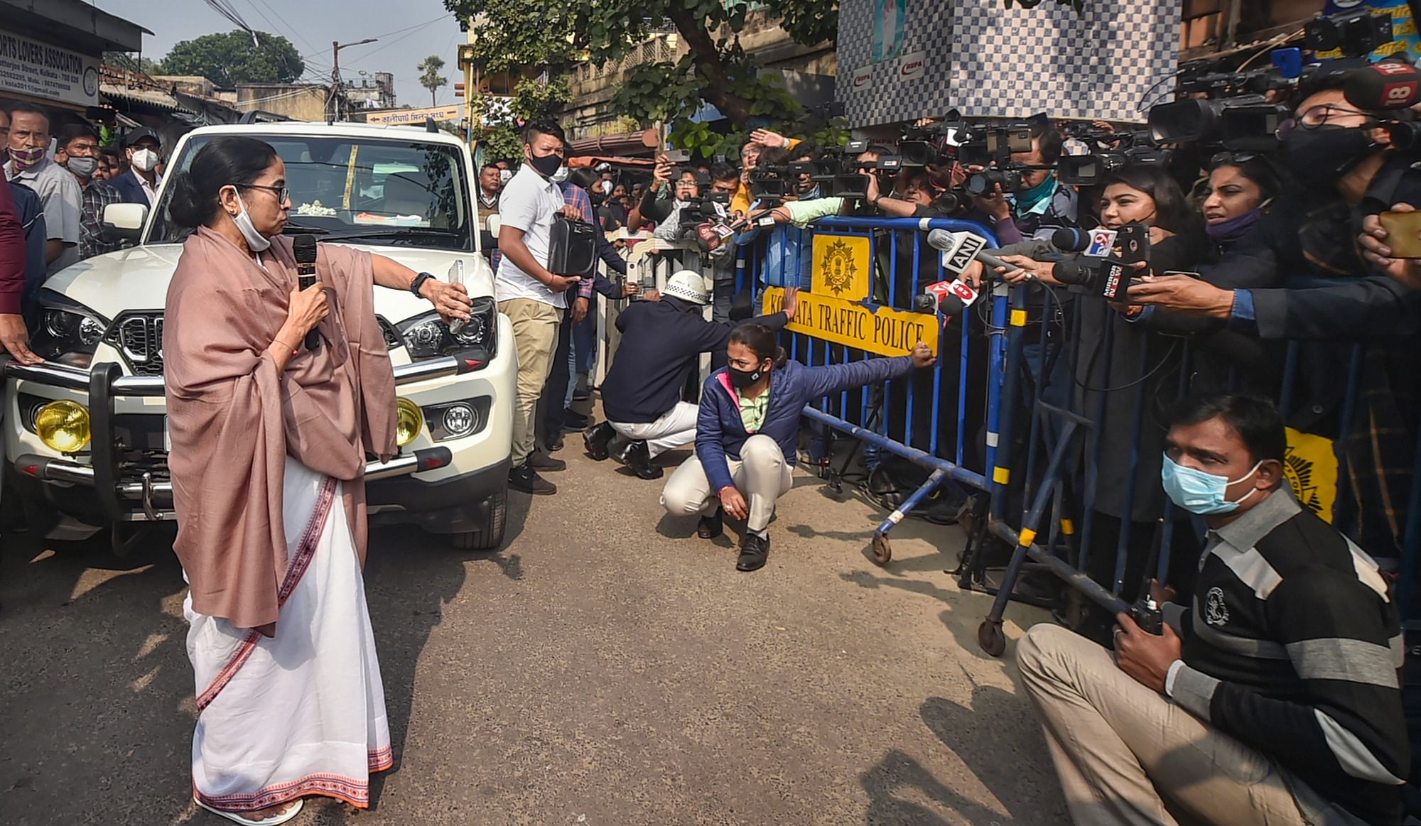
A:
MULTIPOLYGON (((222 135, 188 141, 169 173, 186 170, 193 156, 222 135)), ((303 138, 252 135, 276 148, 291 190, 290 230, 324 230, 333 238, 368 244, 415 244, 473 250, 469 186, 458 146, 394 138, 303 138)), ((168 216, 163 192, 149 244, 179 243, 188 230, 168 216)))

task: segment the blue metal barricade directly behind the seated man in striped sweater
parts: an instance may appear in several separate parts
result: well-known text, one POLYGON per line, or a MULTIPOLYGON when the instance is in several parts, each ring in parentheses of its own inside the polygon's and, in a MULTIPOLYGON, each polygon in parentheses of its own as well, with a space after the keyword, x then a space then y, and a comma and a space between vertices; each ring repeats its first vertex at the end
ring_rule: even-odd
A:
MULTIPOLYGON (((1295 495, 1377 558, 1407 630, 1421 630, 1414 616, 1421 485, 1412 484, 1421 470, 1414 400, 1421 383, 1415 369, 1385 369, 1404 353, 1404 341, 1400 348, 1388 338, 1268 342, 1167 315, 1125 319, 1101 298, 1077 294, 1069 297, 1059 342, 1034 348, 1032 363, 1025 329, 1032 290, 1040 299, 1040 287, 1017 287, 1010 297, 993 467, 1003 485, 993 491, 986 529, 1015 552, 978 632, 983 650, 1005 649, 1002 617, 1029 566, 1050 571, 1111 615, 1128 609, 1123 595, 1148 575, 1185 585, 1204 525, 1162 495, 1158 414, 1209 392, 1277 402, 1289 424, 1285 474, 1295 495), (1064 360, 1064 372, 1053 375, 1049 359, 1064 360), (1033 380, 1023 402, 1019 390, 1033 380), (1064 397, 1053 400, 1042 387, 1053 380, 1066 385, 1064 397), (1019 485, 1007 495, 1012 475, 1019 485)), ((1046 302, 1061 292, 1046 291, 1046 302)), ((1043 345, 1049 326, 1037 331, 1043 345)))

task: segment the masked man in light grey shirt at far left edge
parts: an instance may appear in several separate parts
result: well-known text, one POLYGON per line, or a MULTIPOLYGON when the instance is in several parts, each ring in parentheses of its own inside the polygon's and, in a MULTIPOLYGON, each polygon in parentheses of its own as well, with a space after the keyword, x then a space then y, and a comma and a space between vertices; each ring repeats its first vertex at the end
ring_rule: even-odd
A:
POLYGON ((84 192, 74 176, 47 158, 50 152, 50 116, 30 104, 10 108, 9 159, 6 176, 34 190, 44 209, 45 272, 53 275, 80 260, 80 216, 84 192))

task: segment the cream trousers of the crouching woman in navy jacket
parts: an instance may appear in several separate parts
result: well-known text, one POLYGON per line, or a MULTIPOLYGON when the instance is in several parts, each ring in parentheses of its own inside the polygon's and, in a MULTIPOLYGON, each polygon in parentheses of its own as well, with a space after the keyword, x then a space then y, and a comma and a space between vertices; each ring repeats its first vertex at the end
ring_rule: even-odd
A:
MULTIPOLYGON (((750 505, 750 517, 745 521, 745 527, 763 534, 770 524, 770 515, 774 514, 774 500, 784 495, 794 484, 794 471, 784 463, 779 443, 764 434, 746 439, 740 447, 740 458, 726 457, 726 464, 730 467, 736 490, 750 505)), ((701 467, 701 458, 692 454, 666 480, 666 487, 661 491, 661 507, 678 517, 691 514, 709 517, 720 507, 719 492, 710 490, 710 480, 701 467)))

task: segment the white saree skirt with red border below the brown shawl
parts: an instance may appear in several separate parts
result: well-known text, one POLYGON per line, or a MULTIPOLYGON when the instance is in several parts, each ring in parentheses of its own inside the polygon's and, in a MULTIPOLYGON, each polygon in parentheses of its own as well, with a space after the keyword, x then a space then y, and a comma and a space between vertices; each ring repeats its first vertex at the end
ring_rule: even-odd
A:
POLYGON ((276 636, 192 610, 193 795, 252 812, 306 795, 365 808, 394 764, 375 637, 341 483, 287 457, 276 636))

